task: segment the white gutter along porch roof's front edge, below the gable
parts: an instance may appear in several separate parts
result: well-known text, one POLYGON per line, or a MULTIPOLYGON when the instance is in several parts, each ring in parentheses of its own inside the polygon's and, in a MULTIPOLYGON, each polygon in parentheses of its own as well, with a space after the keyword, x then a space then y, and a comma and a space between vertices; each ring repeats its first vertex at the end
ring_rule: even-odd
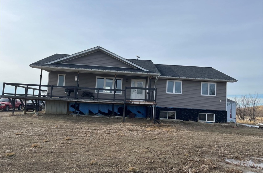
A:
MULTIPOLYGON (((98 70, 98 69, 84 69, 84 68, 71 68, 71 67, 57 67, 57 66, 45 66, 45 65, 29 65, 29 67, 32 68, 43 68, 49 70, 54 69, 65 69, 65 70, 83 70, 83 71, 97 71, 97 72, 120 72, 120 73, 134 73, 134 74, 153 74, 153 75, 160 75, 159 73, 147 73, 147 72, 132 72, 132 71, 119 71, 119 70, 98 70)), ((44 70, 44 69, 43 69, 44 70)))

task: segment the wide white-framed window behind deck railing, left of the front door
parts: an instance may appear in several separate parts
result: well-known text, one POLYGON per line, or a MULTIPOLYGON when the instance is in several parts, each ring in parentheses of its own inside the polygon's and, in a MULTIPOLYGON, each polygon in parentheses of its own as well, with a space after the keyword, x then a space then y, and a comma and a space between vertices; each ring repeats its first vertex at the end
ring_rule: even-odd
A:
MULTIPOLYGON (((114 89, 114 78, 97 77, 96 88, 114 89)), ((122 89, 122 78, 116 78, 115 89, 122 89)), ((99 93, 113 94, 114 91, 99 90, 99 93)), ((115 91, 115 94, 122 94, 122 91, 115 91)))

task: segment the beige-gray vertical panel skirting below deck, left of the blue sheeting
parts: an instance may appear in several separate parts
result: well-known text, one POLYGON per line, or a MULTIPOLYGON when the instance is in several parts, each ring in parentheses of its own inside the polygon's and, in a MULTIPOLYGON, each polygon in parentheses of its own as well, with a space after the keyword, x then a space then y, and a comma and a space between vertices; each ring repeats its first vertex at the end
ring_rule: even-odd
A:
POLYGON ((67 114, 67 102, 46 101, 45 113, 67 114))

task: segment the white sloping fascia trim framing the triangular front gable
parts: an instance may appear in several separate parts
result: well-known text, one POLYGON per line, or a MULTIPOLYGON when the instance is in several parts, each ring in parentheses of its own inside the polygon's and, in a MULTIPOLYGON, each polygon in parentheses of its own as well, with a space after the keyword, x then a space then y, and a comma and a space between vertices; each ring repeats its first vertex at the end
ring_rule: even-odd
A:
POLYGON ((72 55, 69 55, 69 56, 66 56, 66 57, 62 57, 62 58, 56 59, 56 60, 54 60, 54 61, 50 61, 50 62, 47 62, 47 63, 45 63, 45 64, 52 64, 52 63, 56 63, 56 62, 59 62, 59 61, 63 61, 63 60, 66 60, 66 59, 68 59, 68 58, 71 58, 71 57, 74 57, 74 56, 77 56, 77 55, 81 55, 81 54, 83 54, 83 53, 88 53, 88 52, 93 51, 93 50, 96 50, 96 49, 100 49, 100 50, 102 50, 102 51, 104 51, 104 52, 106 52, 106 53, 109 53, 109 54, 112 55, 113 57, 115 57, 115 58, 117 58, 117 59, 119 59, 119 60, 121 60, 121 61, 123 61, 123 62, 126 62, 126 63, 129 64, 129 65, 132 65, 132 66, 134 66, 134 67, 137 67, 138 69, 141 69, 141 70, 144 70, 144 71, 149 71, 149 70, 144 69, 143 67, 141 67, 141 66, 139 66, 139 65, 137 65, 137 64, 134 64, 133 62, 128 61, 127 59, 125 59, 125 58, 123 58, 123 57, 120 57, 119 55, 116 55, 115 53, 112 53, 112 52, 108 51, 107 49, 104 49, 104 48, 102 48, 102 47, 100 47, 100 46, 97 46, 97 47, 94 47, 94 48, 91 48, 91 49, 87 49, 87 50, 84 50, 84 51, 81 51, 81 52, 78 52, 78 53, 74 53, 74 54, 72 54, 72 55))

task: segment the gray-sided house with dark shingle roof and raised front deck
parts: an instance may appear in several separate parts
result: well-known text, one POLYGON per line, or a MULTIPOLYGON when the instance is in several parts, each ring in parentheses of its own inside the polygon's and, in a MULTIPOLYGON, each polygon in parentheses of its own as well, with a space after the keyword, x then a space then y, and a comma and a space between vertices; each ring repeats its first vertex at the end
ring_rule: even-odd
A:
POLYGON ((135 116, 226 122, 227 82, 237 82, 210 67, 126 59, 100 46, 54 54, 29 66, 41 74, 48 71, 48 85, 23 84, 25 93, 39 86, 39 93, 47 87, 45 94, 5 95, 3 87, 2 96, 46 100, 45 113, 114 115, 123 121, 124 116, 135 116))

